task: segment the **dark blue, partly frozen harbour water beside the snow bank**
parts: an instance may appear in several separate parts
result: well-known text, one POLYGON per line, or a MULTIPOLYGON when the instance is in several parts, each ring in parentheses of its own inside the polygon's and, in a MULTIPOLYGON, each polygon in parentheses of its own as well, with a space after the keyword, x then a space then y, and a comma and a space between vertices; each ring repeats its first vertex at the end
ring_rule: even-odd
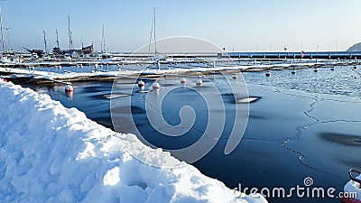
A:
MULTIPOLYGON (((149 125, 144 114, 147 93, 134 88, 131 80, 118 85, 116 100, 109 99, 112 82, 74 83, 75 92, 64 92, 64 87, 32 87, 49 94, 64 106, 77 107, 90 119, 113 128, 110 107, 121 115, 131 99, 131 111, 144 138, 156 146, 178 149, 197 142, 207 128, 208 114, 205 100, 199 92, 208 92, 210 84, 217 84, 226 108, 226 126, 218 143, 201 160, 193 163, 204 174, 223 181, 227 187, 262 189, 284 187, 290 189, 311 177, 314 187, 333 187, 338 191, 348 180, 350 168, 361 164, 361 77, 352 67, 299 69, 295 75, 290 69, 273 70, 271 77, 264 72, 247 72, 248 94, 259 97, 250 104, 248 125, 236 150, 228 155, 224 149, 234 119, 235 99, 227 84, 218 76, 204 80, 197 89, 194 81, 180 87, 180 78, 164 78, 162 88, 175 88, 164 98, 162 114, 170 125, 180 123, 180 108, 192 106, 197 115, 193 128, 184 136, 162 136, 149 125), (194 90, 196 89, 196 90, 194 90), (126 96, 131 93, 132 96, 126 96), (123 96, 123 97, 120 97, 123 96), (128 100, 127 100, 128 99, 128 100), (116 102, 115 102, 116 101, 116 102), (113 102, 111 104, 111 102, 113 102)), ((227 76, 231 78, 231 76, 227 76)), ((149 88, 153 80, 144 80, 149 88)), ((217 110, 217 109, 216 109, 217 110)), ((125 111, 126 112, 126 111, 125 111)), ((128 133, 126 127, 122 133, 128 133)), ((339 202, 338 198, 270 198, 270 202, 339 202)))

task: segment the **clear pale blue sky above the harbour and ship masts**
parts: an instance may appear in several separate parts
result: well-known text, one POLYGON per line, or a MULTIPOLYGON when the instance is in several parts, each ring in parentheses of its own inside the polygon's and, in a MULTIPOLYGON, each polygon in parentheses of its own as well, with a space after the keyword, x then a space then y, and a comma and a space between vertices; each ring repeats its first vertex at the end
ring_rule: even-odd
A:
MULTIPOLYGON (((227 51, 344 51, 361 41, 360 0, 3 0, 5 27, 15 50, 68 48, 70 15, 73 47, 96 42, 102 25, 109 51, 135 51, 149 41, 153 7, 157 38, 191 36, 214 42, 227 51)), ((7 37, 5 35, 5 37, 7 37)))

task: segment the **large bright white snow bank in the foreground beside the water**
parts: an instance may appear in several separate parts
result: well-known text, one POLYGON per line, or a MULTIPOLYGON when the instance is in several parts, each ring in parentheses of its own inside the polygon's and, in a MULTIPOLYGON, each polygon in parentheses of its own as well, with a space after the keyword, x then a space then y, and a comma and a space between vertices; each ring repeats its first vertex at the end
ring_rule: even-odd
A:
POLYGON ((0 81, 0 202, 266 202, 118 134, 48 95, 0 81), (156 168, 134 159, 126 147, 156 168))

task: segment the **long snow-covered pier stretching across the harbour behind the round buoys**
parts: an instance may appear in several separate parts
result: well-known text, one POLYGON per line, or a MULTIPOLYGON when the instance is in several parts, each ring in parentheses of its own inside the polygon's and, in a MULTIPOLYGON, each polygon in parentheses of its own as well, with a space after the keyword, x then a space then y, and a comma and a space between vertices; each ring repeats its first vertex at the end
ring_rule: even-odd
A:
MULTIPOLYGON (((213 62, 214 63, 214 62, 213 62)), ((21 65, 16 68, 13 64, 0 64, 0 75, 7 76, 8 80, 17 81, 34 81, 34 82, 71 82, 71 81, 87 81, 87 80, 112 80, 117 76, 121 77, 158 77, 160 75, 167 74, 185 74, 185 75, 206 75, 214 72, 239 72, 239 71, 264 71, 273 69, 308 69, 308 68, 323 68, 332 66, 342 66, 350 64, 358 64, 358 61, 306 61, 306 62, 262 62, 262 61, 245 61, 245 60, 218 60, 217 65, 206 62, 205 60, 189 60, 189 61, 177 61, 164 62, 162 66, 167 66, 167 69, 147 69, 146 66, 151 66, 151 62, 142 61, 123 61, 121 63, 114 61, 107 61, 102 63, 91 62, 88 64, 88 72, 71 72, 68 70, 60 70, 56 67, 47 67, 49 64, 40 63, 35 67, 34 65, 21 65), (97 70, 98 66, 104 69, 97 70), (100 65, 98 65, 100 64, 100 65), (122 65, 120 65, 122 64, 122 65), (182 65, 181 65, 182 64, 182 65), (115 71, 108 70, 108 67, 118 67, 115 71), (126 69, 127 66, 139 66, 138 69, 126 69), (40 67, 47 67, 46 69, 38 69, 40 67), (58 69, 58 72, 51 71, 51 69, 58 69), (90 71, 91 69, 91 71, 90 71)), ((58 63, 57 63, 58 64, 58 63)), ((53 64, 52 64, 53 65, 53 64)), ((81 62, 72 62, 71 64, 62 64, 67 67, 81 67, 81 62)))

